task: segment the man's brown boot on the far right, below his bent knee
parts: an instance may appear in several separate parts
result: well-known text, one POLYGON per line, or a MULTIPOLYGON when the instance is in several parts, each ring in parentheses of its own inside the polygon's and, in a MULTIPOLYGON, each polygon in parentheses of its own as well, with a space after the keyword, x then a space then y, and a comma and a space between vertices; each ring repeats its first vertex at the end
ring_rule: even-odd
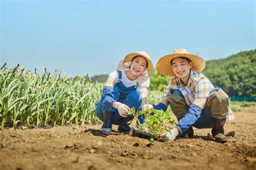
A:
POLYGON ((212 117, 212 122, 212 136, 215 138, 215 141, 225 143, 227 141, 227 137, 224 134, 224 124, 226 122, 226 118, 217 119, 212 117))

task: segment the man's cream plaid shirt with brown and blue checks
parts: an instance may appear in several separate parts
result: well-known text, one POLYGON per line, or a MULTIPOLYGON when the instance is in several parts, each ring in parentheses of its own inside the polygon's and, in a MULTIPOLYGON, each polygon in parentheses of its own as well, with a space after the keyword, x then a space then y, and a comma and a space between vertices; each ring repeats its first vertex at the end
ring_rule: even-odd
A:
POLYGON ((163 97, 169 96, 170 90, 178 89, 183 94, 186 103, 191 105, 195 98, 208 98, 210 90, 213 88, 214 86, 207 77, 192 69, 187 86, 184 86, 181 80, 174 76, 169 85, 165 87, 163 97))

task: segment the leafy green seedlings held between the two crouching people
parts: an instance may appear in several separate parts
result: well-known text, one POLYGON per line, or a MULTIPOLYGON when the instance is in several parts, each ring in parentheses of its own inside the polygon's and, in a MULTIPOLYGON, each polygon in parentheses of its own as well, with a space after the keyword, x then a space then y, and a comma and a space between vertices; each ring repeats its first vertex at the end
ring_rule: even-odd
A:
POLYGON ((159 137, 159 134, 164 131, 170 131, 170 125, 174 124, 175 121, 170 117, 168 112, 156 109, 147 109, 145 111, 135 112, 134 108, 129 111, 137 120, 137 128, 145 133, 151 134, 151 141, 159 137), (145 115, 144 123, 139 122, 139 116, 145 115))

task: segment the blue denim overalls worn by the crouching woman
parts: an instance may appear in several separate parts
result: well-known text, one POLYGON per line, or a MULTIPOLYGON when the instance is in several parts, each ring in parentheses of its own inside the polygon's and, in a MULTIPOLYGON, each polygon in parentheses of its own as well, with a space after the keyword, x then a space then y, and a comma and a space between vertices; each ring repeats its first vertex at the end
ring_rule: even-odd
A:
MULTIPOLYGON (((134 107, 136 111, 138 111, 140 104, 142 103, 142 98, 140 97, 140 94, 136 89, 138 86, 131 86, 131 87, 125 87, 122 80, 122 72, 118 70, 118 82, 114 85, 114 100, 117 102, 126 104, 131 109, 134 107)), ((130 121, 133 116, 129 115, 128 117, 122 117, 119 115, 119 112, 117 109, 107 108, 103 103, 102 100, 100 100, 96 105, 96 116, 100 119, 100 121, 104 121, 104 114, 105 112, 112 112, 112 124, 114 125, 122 125, 126 122, 130 121)))

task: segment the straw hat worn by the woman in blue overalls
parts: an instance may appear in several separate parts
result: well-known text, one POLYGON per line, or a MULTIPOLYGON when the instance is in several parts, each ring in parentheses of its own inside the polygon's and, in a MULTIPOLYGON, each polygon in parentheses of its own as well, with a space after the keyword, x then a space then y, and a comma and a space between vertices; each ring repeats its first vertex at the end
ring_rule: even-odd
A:
POLYGON ((132 61, 132 59, 133 59, 135 56, 142 56, 142 57, 144 57, 144 58, 147 60, 147 68, 146 68, 146 69, 147 69, 147 73, 148 73, 149 75, 151 75, 152 70, 153 70, 153 63, 152 63, 152 61, 150 60, 150 55, 147 54, 147 53, 144 52, 144 51, 139 51, 139 52, 137 52, 137 53, 131 53, 131 54, 126 55, 123 62, 124 62, 124 63, 130 62, 130 61, 132 61))

